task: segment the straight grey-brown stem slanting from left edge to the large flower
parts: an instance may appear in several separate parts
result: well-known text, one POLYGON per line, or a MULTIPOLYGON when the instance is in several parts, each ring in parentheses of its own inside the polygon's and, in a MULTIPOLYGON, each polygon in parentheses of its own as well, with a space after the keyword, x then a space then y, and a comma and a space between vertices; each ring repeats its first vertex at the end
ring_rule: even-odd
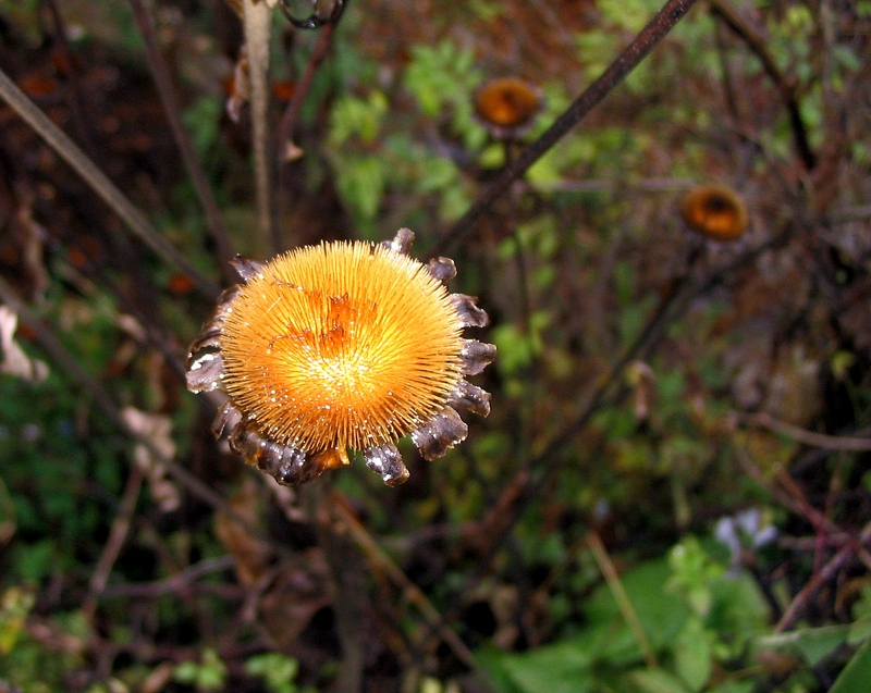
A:
POLYGON ((62 129, 52 123, 15 83, 0 70, 0 98, 2 98, 22 120, 33 127, 42 139, 99 195, 131 231, 167 263, 177 267, 196 284, 199 292, 214 299, 219 288, 214 283, 200 274, 191 262, 148 222, 124 194, 100 171, 100 169, 70 139, 62 129))

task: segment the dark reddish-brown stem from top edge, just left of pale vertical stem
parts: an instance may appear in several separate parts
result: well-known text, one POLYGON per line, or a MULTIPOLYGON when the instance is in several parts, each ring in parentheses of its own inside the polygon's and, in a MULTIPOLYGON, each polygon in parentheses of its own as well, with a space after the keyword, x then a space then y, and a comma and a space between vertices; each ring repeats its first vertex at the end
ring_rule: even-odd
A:
POLYGON ((230 237, 228 236, 224 222, 221 219, 221 213, 218 210, 218 203, 214 201, 214 196, 211 193, 211 187, 206 180, 203 163, 194 149, 191 134, 182 122, 182 109, 179 103, 179 97, 172 84, 172 76, 167 66, 167 61, 163 59, 163 54, 158 48, 154 23, 145 4, 143 4, 143 0, 130 0, 130 3, 133 8, 133 16, 136 20, 136 26, 139 27, 139 34, 142 34, 143 41, 145 42, 148 66, 155 77, 155 84, 160 94, 160 101, 163 104, 167 121, 172 129, 172 136, 175 138, 175 144, 179 147, 179 151, 181 151, 185 169, 191 176, 194 190, 206 214, 206 220, 214 240, 214 247, 218 250, 221 273, 228 283, 232 284, 236 281, 236 277, 233 268, 230 265, 230 260, 233 259, 230 237))

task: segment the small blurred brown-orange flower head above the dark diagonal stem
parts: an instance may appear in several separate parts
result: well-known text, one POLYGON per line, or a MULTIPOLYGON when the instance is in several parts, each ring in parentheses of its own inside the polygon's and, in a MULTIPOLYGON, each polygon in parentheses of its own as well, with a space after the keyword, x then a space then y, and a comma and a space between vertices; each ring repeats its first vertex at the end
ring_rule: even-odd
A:
POLYGON ((491 79, 475 94, 475 112, 494 137, 516 137, 541 107, 536 89, 518 77, 491 79))

